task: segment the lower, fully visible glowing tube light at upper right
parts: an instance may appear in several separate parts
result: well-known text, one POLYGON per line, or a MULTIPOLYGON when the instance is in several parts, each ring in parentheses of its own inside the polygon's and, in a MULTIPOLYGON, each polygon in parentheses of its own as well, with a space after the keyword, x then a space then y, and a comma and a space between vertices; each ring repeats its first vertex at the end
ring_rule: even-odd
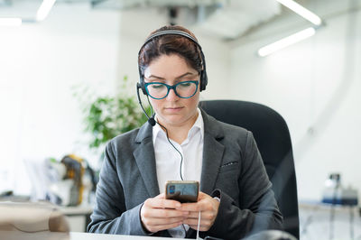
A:
POLYGON ((302 40, 305 40, 315 34, 316 30, 313 27, 307 28, 302 30, 301 32, 297 32, 292 34, 291 36, 288 36, 286 38, 283 38, 282 40, 279 40, 277 42, 273 42, 270 45, 264 46, 258 51, 258 55, 261 57, 265 57, 274 51, 282 50, 296 42, 301 42, 302 40))

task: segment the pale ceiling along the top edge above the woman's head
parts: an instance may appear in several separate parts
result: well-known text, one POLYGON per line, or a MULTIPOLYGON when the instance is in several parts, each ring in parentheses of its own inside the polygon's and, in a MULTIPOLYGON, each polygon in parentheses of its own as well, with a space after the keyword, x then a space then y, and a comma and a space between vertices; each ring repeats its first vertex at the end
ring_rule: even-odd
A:
MULTIPOLYGON (((282 10, 275 0, 57 0, 56 5, 76 3, 115 11, 168 9, 170 21, 191 24, 223 39, 236 39, 248 29, 281 14, 282 10)), ((31 19, 41 4, 42 0, 0 0, 0 17, 31 19)))

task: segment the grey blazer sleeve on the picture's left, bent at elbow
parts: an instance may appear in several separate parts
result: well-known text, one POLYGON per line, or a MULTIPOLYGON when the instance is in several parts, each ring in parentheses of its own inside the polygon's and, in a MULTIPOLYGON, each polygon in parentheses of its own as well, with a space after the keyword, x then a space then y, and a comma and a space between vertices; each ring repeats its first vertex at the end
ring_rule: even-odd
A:
POLYGON ((97 184, 95 208, 87 231, 99 234, 147 235, 140 219, 143 204, 128 210, 125 208, 125 196, 116 172, 115 155, 110 142, 106 145, 97 184))

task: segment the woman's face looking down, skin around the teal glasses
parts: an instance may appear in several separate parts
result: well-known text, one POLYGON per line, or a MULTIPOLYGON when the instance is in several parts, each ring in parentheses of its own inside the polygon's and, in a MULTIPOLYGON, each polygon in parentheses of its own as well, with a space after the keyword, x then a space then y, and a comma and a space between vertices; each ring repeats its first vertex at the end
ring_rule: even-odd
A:
MULTIPOLYGON (((170 86, 181 81, 199 81, 199 73, 191 68, 186 60, 179 55, 161 55, 153 60, 144 70, 144 82, 162 82, 170 86)), ((153 99, 149 97, 162 125, 182 126, 193 125, 197 119, 197 106, 199 104, 199 88, 190 98, 178 97, 173 89, 167 97, 153 99)))

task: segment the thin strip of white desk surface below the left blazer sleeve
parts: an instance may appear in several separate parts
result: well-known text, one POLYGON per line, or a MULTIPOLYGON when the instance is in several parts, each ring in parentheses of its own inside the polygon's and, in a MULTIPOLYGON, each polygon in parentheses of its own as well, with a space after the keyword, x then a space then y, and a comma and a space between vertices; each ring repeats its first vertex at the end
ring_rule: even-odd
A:
POLYGON ((99 235, 88 233, 70 233, 70 240, 174 240, 184 238, 170 238, 170 237, 155 237, 155 236, 141 236, 141 235, 99 235))

